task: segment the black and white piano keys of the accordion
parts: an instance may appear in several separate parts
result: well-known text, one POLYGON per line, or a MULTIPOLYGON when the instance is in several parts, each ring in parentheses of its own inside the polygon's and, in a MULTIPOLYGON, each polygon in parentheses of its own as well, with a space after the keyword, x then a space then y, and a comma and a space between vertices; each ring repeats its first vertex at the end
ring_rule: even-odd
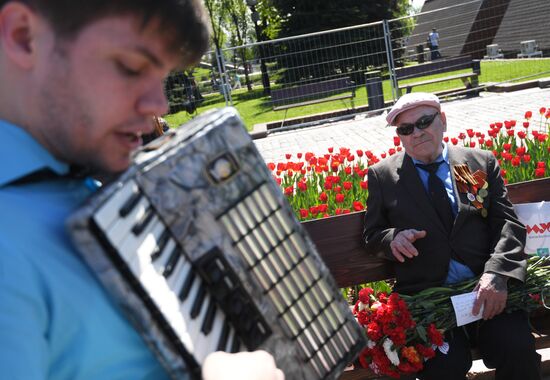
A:
POLYGON ((198 363, 214 351, 245 349, 135 182, 128 181, 110 198, 94 222, 198 363))

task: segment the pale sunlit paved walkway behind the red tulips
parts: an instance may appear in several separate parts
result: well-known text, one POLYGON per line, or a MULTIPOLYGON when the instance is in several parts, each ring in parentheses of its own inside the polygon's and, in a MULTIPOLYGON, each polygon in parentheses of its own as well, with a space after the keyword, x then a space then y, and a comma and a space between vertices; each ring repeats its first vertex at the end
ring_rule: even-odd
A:
MULTIPOLYGON (((550 88, 532 88, 510 93, 481 93, 471 99, 445 102, 442 110, 447 115, 447 135, 457 136, 467 128, 485 134, 495 121, 516 119, 523 121, 525 111, 532 111, 538 120, 540 107, 550 107, 550 88)), ((353 120, 308 127, 287 132, 272 133, 255 140, 267 162, 284 161, 285 154, 313 152, 323 154, 329 147, 370 149, 381 153, 393 146, 394 128, 386 127, 385 115, 366 118, 358 115, 353 120)))

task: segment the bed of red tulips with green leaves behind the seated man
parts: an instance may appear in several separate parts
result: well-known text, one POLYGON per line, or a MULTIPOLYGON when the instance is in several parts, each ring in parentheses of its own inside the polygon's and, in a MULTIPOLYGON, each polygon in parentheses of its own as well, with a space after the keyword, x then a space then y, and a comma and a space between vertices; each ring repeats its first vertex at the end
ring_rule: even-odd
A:
MULTIPOLYGON (((456 137, 446 136, 450 145, 490 150, 498 159, 506 183, 544 178, 550 175, 550 109, 539 116, 527 111, 524 120, 490 124, 487 133, 467 129, 456 137), (536 119, 536 120, 535 120, 536 119)), ((367 169, 401 151, 399 137, 393 147, 375 154, 369 149, 329 148, 316 155, 286 155, 286 162, 268 163, 277 183, 301 221, 362 211, 368 196, 367 169)))

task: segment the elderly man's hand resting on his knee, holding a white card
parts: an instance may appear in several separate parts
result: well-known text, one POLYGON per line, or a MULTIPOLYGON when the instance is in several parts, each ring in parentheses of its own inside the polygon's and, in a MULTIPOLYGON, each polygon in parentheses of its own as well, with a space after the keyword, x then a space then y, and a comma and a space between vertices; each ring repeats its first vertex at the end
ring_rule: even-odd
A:
POLYGON ((472 314, 477 315, 483 305, 483 319, 502 313, 508 298, 508 277, 497 273, 483 273, 474 291, 477 291, 472 314))

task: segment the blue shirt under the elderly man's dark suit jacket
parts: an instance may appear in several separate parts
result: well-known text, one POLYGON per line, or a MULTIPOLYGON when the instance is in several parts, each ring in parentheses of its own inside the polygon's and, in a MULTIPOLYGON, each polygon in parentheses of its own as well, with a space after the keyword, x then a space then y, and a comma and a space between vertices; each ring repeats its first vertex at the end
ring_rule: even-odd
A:
MULTIPOLYGON (((411 157, 412 158, 412 157, 411 157)), ((425 162, 416 160, 412 158, 416 171, 420 176, 420 180, 424 185, 426 192, 428 191, 428 177, 429 173, 426 170, 420 169, 416 164, 425 164, 425 162)), ((434 162, 443 161, 441 165, 437 168, 436 175, 443 181, 445 185, 445 190, 447 190, 447 196, 451 201, 451 206, 453 210, 453 215, 456 217, 458 214, 458 203, 456 201, 456 195, 453 189, 453 179, 451 177, 451 165, 449 164, 449 153, 447 144, 443 144, 443 152, 435 159, 434 162)), ((467 280, 474 277, 474 273, 466 265, 459 263, 456 260, 451 259, 449 263, 449 272, 447 273, 447 279, 445 280, 446 284, 453 284, 455 282, 460 282, 462 280, 467 280)))

